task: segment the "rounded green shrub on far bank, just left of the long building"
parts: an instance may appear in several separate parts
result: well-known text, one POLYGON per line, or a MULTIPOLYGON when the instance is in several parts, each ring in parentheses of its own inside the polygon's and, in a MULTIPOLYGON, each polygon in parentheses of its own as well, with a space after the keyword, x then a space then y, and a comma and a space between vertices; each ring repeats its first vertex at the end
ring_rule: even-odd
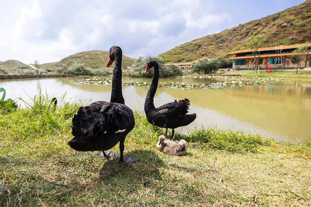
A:
POLYGON ((215 73, 220 67, 220 61, 217 58, 208 60, 204 58, 191 66, 191 70, 197 74, 215 73))

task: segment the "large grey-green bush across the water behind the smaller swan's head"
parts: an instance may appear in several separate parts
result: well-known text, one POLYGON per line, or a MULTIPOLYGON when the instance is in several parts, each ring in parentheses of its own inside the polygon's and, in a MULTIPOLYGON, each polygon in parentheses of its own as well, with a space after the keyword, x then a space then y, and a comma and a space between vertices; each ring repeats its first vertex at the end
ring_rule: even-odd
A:
POLYGON ((153 56, 146 56, 146 57, 138 57, 134 64, 132 65, 131 71, 124 72, 124 75, 128 75, 131 77, 148 77, 151 78, 153 76, 154 68, 151 68, 146 74, 144 71, 146 69, 146 64, 148 61, 155 60, 159 64, 159 77, 170 77, 170 76, 178 76, 182 75, 182 70, 176 65, 164 65, 165 61, 161 57, 153 57, 153 56))

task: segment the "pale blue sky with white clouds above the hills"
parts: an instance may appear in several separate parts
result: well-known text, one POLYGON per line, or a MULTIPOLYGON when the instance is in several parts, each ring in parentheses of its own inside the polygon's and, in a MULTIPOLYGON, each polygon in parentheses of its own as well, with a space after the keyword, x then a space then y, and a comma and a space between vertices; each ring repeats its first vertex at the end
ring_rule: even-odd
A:
POLYGON ((60 61, 113 45, 132 58, 299 5, 302 0, 1 0, 0 61, 60 61))

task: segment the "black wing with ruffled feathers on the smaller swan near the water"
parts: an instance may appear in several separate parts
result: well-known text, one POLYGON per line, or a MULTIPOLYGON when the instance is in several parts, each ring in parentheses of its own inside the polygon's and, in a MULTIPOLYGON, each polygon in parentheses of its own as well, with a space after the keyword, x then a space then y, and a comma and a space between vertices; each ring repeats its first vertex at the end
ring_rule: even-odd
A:
POLYGON ((158 113, 162 115, 169 115, 172 114, 174 116, 181 116, 188 113, 190 106, 189 99, 185 98, 183 100, 170 102, 167 104, 164 104, 157 108, 158 113))

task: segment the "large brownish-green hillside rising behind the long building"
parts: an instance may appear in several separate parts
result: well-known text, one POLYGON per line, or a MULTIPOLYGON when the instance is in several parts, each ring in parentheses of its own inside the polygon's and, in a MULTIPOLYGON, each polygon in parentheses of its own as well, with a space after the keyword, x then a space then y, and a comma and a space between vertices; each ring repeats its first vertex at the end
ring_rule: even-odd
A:
POLYGON ((162 56, 166 62, 188 62, 202 57, 224 57, 234 50, 249 49, 246 43, 252 35, 265 34, 264 47, 290 45, 311 41, 311 1, 284 11, 253 20, 217 34, 184 43, 162 56))

